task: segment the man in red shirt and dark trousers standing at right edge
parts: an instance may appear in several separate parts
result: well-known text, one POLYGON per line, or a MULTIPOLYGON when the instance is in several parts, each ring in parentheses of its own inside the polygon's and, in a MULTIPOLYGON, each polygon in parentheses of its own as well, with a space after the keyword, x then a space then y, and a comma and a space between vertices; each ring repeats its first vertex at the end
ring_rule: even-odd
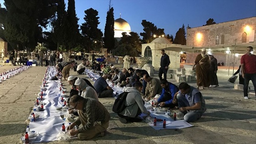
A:
POLYGON ((244 98, 248 99, 248 85, 249 81, 251 80, 255 96, 256 96, 256 55, 252 54, 253 48, 247 47, 246 54, 242 55, 241 57, 241 71, 242 71, 242 77, 245 79, 244 83, 244 98))

